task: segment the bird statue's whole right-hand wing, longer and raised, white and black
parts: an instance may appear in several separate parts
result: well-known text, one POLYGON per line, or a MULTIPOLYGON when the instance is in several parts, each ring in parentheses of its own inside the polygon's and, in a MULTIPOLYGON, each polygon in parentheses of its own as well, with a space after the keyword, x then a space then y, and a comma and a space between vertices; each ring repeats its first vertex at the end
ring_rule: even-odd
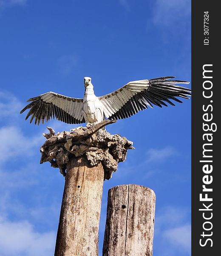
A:
POLYGON ((104 113, 108 119, 123 119, 133 116, 140 110, 157 105, 160 108, 166 103, 175 106, 171 101, 181 102, 176 97, 190 99, 191 90, 175 84, 189 84, 187 81, 169 80, 174 76, 149 80, 132 81, 120 89, 100 96, 104 113), (165 103, 166 102, 166 103, 165 103))

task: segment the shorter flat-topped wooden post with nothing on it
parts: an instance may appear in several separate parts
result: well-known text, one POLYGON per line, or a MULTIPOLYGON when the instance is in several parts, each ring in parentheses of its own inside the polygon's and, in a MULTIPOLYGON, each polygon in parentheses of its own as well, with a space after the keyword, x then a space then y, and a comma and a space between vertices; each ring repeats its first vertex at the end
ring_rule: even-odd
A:
POLYGON ((156 195, 140 185, 108 191, 103 256, 152 256, 156 195))

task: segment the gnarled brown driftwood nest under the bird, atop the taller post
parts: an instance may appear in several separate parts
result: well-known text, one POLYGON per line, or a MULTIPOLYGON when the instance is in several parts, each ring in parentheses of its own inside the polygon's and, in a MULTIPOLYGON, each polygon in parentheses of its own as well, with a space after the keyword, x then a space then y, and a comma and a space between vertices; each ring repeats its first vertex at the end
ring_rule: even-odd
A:
POLYGON ((103 164, 104 179, 109 180, 112 173, 116 172, 118 163, 125 161, 127 150, 133 149, 133 143, 125 137, 100 130, 113 122, 116 120, 104 120, 94 126, 79 127, 71 132, 57 134, 52 128, 48 128, 50 133, 43 134, 47 140, 40 148, 40 163, 50 162, 52 167, 59 168, 65 176, 70 156, 85 155, 91 166, 103 164))

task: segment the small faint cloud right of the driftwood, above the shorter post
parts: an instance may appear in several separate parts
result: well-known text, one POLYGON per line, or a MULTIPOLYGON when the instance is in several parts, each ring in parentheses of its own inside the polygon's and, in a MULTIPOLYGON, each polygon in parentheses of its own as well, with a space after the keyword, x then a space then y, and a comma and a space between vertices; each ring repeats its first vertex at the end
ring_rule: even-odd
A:
POLYGON ((172 157, 177 155, 177 151, 175 148, 172 148, 170 146, 167 146, 165 148, 156 149, 156 148, 150 148, 147 151, 147 159, 146 162, 156 162, 156 161, 163 161, 167 159, 168 157, 172 157))

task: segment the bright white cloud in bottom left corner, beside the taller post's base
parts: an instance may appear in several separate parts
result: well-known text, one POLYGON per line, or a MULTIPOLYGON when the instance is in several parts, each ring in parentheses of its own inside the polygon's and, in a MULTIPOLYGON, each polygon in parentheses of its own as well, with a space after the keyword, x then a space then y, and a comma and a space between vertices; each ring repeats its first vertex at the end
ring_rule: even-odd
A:
POLYGON ((27 221, 0 219, 1 256, 53 255, 55 241, 54 232, 36 232, 27 221))

